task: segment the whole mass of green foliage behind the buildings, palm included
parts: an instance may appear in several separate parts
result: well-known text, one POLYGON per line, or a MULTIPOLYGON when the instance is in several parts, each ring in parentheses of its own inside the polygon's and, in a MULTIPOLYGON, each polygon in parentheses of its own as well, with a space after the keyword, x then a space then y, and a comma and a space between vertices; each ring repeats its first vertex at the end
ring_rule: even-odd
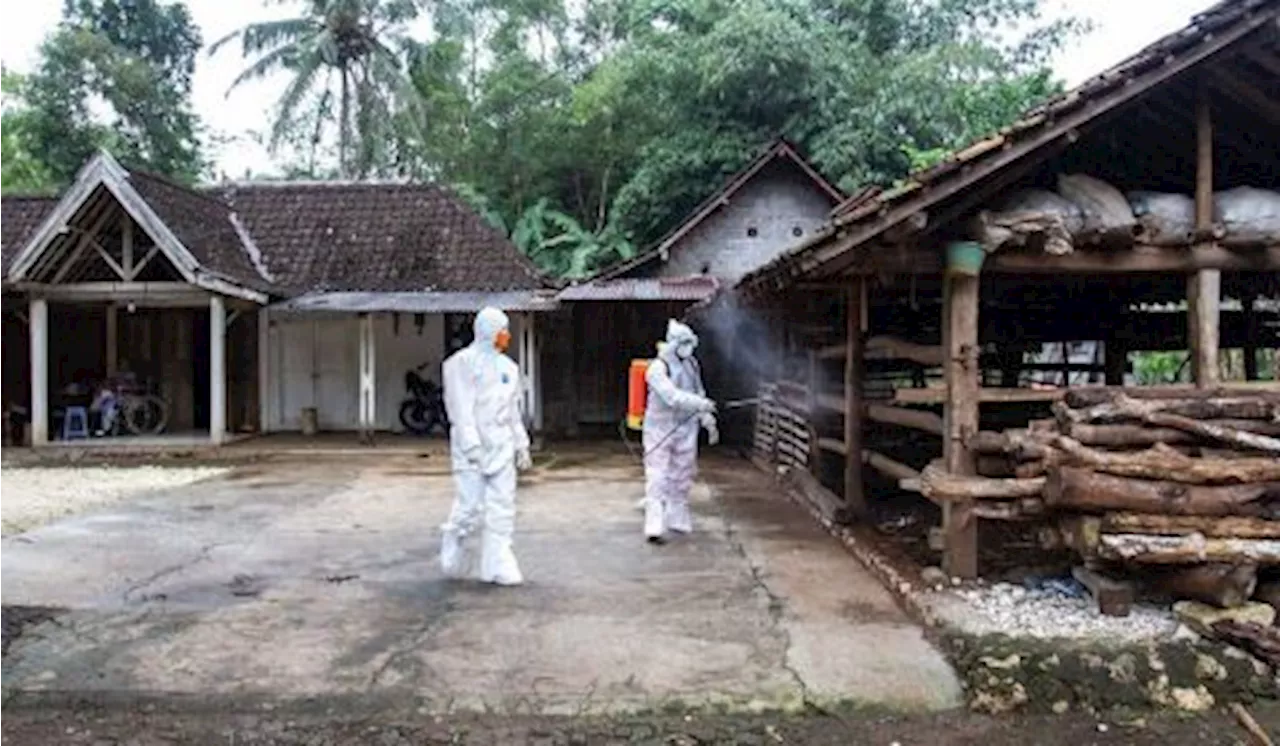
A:
MULTIPOLYGON (((0 178, 40 184, 26 152, 67 180, 102 146, 195 175, 186 8, 64 3, 28 106, 0 107, 17 170, 0 178), (91 115, 96 97, 108 116, 91 115)), ((540 266, 584 276, 669 230, 777 136, 852 191, 1006 125, 1060 90, 1048 55, 1083 29, 1044 22, 1043 4, 306 0, 210 54, 238 42, 236 84, 288 75, 264 136, 301 154, 288 175, 454 184, 540 266)))

